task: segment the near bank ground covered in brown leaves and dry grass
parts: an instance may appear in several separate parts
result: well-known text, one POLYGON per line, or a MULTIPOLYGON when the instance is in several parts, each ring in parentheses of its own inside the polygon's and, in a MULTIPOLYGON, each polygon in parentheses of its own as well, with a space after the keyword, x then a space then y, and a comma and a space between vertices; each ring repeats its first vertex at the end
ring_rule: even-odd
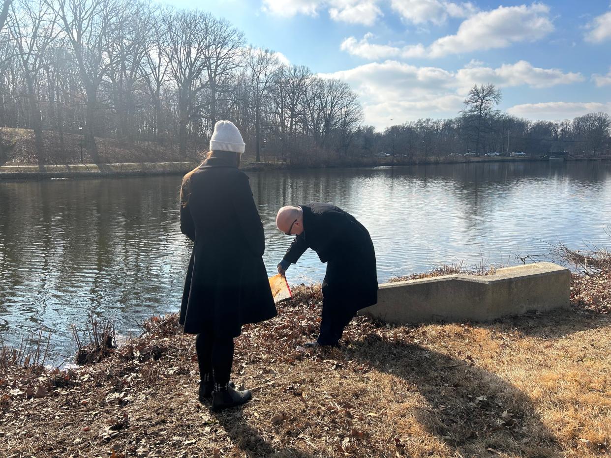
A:
POLYGON ((573 289, 566 310, 492 324, 359 316, 340 349, 310 350, 321 293, 301 286, 276 318, 236 339, 232 379, 254 399, 222 413, 197 401, 194 337, 174 315, 94 357, 79 349, 94 363, 72 369, 16 365, 16 352, 3 351, 0 455, 606 455, 611 316, 584 307, 583 294, 573 289))

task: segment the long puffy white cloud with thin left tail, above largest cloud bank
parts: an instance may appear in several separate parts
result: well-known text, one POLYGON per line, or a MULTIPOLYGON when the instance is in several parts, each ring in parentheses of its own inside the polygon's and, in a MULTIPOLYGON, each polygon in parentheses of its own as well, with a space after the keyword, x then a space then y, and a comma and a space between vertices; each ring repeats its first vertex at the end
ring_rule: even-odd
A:
POLYGON ((362 40, 346 38, 340 49, 353 56, 380 60, 389 57, 410 59, 415 57, 443 57, 448 54, 507 48, 512 43, 532 42, 554 30, 548 17, 549 8, 540 3, 530 6, 499 7, 496 10, 477 13, 463 21, 456 35, 435 40, 428 48, 422 43, 408 46, 378 45, 370 43, 372 34, 362 40))

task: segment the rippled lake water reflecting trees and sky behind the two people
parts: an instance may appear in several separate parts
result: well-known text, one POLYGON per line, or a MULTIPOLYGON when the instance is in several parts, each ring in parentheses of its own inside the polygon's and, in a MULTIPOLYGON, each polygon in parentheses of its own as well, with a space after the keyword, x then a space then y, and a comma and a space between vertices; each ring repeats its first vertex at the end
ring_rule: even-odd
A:
MULTIPOLYGON (((562 241, 611 246, 611 163, 427 165, 249 172, 266 234, 270 275, 291 238, 276 230, 282 205, 330 202, 371 233, 378 279, 436 264, 515 264, 562 241)), ((117 332, 177 311, 191 242, 180 233, 180 176, 0 182, 0 333, 39 329, 57 355, 73 350, 70 324, 88 313, 117 332)), ((324 276, 313 252, 290 282, 324 276)))

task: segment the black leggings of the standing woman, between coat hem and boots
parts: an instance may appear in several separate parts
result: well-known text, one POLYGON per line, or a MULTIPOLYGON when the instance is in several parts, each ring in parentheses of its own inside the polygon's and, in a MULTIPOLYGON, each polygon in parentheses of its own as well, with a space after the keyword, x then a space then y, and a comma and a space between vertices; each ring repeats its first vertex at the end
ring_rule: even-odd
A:
POLYGON ((200 380, 209 379, 218 385, 229 383, 233 364, 233 337, 202 332, 195 338, 195 348, 200 380))

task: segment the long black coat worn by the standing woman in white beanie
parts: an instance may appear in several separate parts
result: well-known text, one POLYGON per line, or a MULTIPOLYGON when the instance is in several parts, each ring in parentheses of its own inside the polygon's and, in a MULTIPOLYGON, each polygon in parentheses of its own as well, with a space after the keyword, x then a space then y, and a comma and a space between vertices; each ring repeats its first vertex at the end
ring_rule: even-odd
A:
POLYGON ((194 241, 180 307, 185 332, 236 337, 276 316, 263 224, 244 172, 210 158, 181 187, 180 230, 194 241))

